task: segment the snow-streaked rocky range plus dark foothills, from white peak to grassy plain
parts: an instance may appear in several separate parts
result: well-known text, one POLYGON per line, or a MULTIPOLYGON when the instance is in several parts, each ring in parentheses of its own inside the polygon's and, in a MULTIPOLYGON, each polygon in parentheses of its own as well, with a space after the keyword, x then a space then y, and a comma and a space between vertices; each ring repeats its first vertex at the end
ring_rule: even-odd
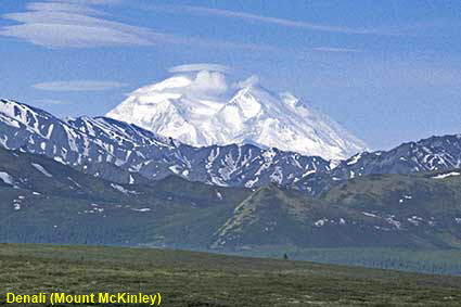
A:
POLYGON ((193 146, 136 124, 61 119, 2 99, 0 240, 461 247, 461 136, 342 161, 255 143, 193 146))

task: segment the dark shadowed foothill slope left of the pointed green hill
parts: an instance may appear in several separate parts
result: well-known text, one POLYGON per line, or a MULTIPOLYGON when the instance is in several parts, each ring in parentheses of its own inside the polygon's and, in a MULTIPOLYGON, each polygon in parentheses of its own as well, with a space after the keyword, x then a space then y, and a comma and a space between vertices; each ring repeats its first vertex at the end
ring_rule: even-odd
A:
POLYGON ((44 156, 0 149, 0 241, 185 244, 182 234, 167 240, 156 229, 181 216, 193 226, 194 217, 233 207, 249 193, 176 176, 118 184, 44 156))

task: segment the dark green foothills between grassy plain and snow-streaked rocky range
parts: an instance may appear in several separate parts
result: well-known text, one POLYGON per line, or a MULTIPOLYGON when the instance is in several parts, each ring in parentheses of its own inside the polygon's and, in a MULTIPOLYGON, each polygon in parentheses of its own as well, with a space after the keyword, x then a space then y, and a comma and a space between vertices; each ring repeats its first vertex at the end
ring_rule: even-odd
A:
POLYGON ((461 170, 369 175, 317 197, 171 175, 120 184, 0 149, 0 240, 248 251, 461 247, 461 170))

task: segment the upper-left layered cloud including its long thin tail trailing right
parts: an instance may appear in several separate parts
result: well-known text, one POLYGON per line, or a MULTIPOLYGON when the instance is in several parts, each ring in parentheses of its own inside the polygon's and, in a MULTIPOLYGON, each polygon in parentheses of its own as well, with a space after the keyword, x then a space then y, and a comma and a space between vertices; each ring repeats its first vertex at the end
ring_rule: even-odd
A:
POLYGON ((117 0, 49 0, 29 3, 28 11, 2 15, 17 22, 0 28, 0 36, 15 37, 50 48, 89 48, 105 46, 185 44, 202 48, 276 51, 255 43, 232 42, 166 34, 146 27, 111 21, 94 5, 121 3, 117 0))

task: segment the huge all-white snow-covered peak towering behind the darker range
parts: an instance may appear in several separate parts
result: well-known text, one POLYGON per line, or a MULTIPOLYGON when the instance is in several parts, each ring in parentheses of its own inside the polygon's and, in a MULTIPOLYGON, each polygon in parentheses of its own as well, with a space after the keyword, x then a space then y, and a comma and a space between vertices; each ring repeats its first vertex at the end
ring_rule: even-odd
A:
MULTIPOLYGON (((142 87, 106 114, 194 146, 249 143, 325 159, 343 159, 366 144, 289 92, 255 77, 228 81, 221 72, 177 72, 142 87)), ((213 68, 213 67, 212 67, 213 68)))

